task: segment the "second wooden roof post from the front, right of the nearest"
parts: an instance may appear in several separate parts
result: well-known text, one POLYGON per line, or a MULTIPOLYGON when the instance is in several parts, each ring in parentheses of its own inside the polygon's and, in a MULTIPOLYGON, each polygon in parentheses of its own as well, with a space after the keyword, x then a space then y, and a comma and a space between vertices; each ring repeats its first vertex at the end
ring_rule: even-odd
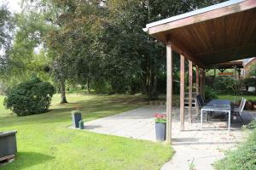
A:
POLYGON ((184 130, 185 59, 180 55, 180 130, 184 130))

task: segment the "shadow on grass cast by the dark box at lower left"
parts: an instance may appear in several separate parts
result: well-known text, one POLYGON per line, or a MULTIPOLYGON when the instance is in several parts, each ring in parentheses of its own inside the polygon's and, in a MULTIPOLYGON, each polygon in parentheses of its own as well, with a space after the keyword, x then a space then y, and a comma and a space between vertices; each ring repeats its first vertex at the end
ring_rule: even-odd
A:
POLYGON ((0 167, 2 170, 26 169, 41 163, 46 163, 54 159, 54 156, 47 156, 36 152, 18 152, 15 156, 15 161, 0 167))

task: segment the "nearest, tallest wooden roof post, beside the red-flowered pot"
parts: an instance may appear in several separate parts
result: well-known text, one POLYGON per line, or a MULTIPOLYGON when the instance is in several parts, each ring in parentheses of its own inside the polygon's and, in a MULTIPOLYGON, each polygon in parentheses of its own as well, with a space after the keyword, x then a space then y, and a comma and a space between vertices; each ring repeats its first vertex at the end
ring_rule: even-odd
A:
POLYGON ((172 142, 172 45, 166 45, 167 89, 166 89, 166 142, 172 142))

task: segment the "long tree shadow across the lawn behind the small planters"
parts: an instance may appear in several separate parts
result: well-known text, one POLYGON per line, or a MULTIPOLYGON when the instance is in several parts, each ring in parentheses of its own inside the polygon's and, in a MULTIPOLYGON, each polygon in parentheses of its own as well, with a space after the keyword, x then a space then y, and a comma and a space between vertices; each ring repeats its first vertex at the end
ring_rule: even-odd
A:
POLYGON ((78 100, 65 105, 55 105, 50 107, 49 111, 43 114, 32 116, 7 116, 0 118, 1 127, 12 127, 19 122, 19 125, 31 125, 35 123, 51 123, 51 122, 71 122, 71 111, 79 106, 83 113, 83 117, 88 120, 101 118, 104 116, 114 115, 123 111, 137 108, 138 104, 143 103, 143 98, 139 99, 113 99, 100 98, 91 100, 78 100), (15 120, 15 121, 14 121, 15 120))

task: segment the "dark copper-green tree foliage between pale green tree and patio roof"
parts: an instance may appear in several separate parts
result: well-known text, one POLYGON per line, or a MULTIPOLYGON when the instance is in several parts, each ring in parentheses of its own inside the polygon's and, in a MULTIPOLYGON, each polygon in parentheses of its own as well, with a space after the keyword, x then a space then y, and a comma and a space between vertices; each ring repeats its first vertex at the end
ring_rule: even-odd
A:
POLYGON ((87 84, 99 93, 142 91, 154 99, 166 72, 166 47, 142 28, 218 1, 36 2, 49 8, 44 15, 54 8, 61 11, 48 18, 57 29, 44 38, 58 60, 53 71, 59 79, 87 84))

